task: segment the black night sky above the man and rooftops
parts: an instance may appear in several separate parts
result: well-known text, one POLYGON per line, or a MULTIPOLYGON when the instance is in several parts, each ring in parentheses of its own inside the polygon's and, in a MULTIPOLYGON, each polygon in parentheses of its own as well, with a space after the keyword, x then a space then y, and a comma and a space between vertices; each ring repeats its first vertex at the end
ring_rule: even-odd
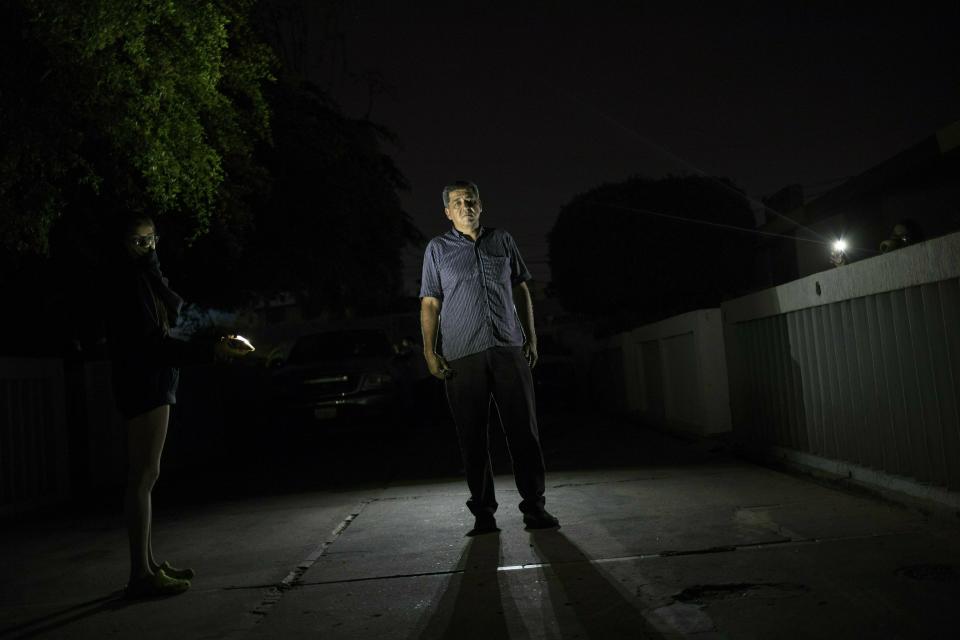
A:
POLYGON ((554 4, 352 2, 345 67, 328 51, 315 72, 354 116, 358 76, 390 87, 370 117, 399 137, 404 205, 428 237, 449 228, 443 184, 473 179, 485 223, 541 280, 559 208, 602 182, 704 172, 757 199, 810 196, 960 118, 960 3, 554 4))

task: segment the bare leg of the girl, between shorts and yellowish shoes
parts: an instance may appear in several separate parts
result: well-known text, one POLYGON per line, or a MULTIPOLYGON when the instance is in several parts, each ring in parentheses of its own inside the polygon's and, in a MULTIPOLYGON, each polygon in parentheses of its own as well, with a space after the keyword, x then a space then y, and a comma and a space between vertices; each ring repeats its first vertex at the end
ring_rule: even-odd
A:
POLYGON ((153 574, 150 492, 160 475, 160 456, 167 437, 170 405, 162 405, 127 421, 129 475, 124 507, 130 538, 130 581, 153 574))

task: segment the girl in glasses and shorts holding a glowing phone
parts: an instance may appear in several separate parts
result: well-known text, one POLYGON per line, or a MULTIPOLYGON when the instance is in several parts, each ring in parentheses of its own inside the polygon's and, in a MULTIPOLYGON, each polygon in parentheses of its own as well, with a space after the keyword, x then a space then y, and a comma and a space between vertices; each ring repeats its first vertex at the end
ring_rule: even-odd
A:
POLYGON ((183 305, 160 272, 153 221, 133 216, 117 225, 108 276, 106 329, 117 407, 127 432, 129 472, 124 498, 130 540, 131 598, 173 595, 190 588, 192 569, 153 555, 151 492, 160 474, 170 405, 176 403, 178 365, 239 356, 252 350, 236 336, 193 344, 170 336, 183 305))

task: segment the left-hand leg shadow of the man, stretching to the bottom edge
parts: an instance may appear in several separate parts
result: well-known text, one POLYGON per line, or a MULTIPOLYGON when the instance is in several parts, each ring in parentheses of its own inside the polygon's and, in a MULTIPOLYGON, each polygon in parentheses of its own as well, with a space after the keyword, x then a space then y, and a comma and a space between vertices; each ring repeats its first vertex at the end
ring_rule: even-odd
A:
POLYGON ((429 619, 412 638, 500 640, 510 637, 498 584, 500 533, 469 538, 429 619))

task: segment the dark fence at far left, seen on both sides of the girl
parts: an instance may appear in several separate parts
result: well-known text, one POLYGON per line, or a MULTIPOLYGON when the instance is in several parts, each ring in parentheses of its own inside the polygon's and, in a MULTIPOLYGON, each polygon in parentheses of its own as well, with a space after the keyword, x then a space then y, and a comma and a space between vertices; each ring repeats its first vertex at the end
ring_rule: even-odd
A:
MULTIPOLYGON (((164 475, 229 468, 239 447, 256 446, 268 375, 258 367, 183 369, 164 475)), ((59 359, 0 358, 0 515, 87 492, 116 494, 126 465, 109 362, 65 369, 59 359)))

